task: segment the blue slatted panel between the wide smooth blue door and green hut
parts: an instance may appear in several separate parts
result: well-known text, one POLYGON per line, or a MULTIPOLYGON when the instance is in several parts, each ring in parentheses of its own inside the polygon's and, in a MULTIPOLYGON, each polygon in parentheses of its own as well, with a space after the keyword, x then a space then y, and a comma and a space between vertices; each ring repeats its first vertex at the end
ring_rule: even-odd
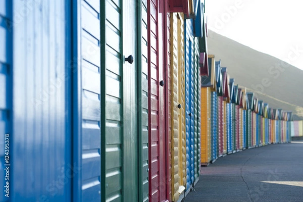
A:
POLYGON ((99 2, 73 4, 73 180, 74 201, 101 200, 99 2))

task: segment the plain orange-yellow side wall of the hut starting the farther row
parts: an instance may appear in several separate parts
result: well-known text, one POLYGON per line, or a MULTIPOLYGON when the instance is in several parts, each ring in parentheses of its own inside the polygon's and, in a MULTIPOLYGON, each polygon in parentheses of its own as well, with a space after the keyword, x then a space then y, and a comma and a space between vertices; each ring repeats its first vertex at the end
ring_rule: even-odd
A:
POLYGON ((201 87, 201 163, 211 160, 210 88, 201 87))

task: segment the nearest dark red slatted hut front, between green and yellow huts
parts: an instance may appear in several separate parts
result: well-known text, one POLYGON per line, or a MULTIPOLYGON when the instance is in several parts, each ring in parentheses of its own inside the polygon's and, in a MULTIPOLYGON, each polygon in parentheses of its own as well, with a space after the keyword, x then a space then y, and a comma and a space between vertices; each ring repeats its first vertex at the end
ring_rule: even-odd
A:
POLYGON ((149 201, 170 196, 167 8, 167 1, 147 1, 149 201))

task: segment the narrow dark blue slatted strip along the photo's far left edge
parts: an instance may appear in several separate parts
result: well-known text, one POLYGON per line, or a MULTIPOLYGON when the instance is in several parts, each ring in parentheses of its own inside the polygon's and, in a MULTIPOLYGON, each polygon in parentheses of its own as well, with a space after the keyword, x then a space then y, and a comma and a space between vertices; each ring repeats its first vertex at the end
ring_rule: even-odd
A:
MULTIPOLYGON (((9 166, 12 161, 12 156, 7 155, 8 149, 11 148, 12 151, 12 103, 13 103, 13 67, 12 67, 12 59, 13 59, 13 22, 12 22, 12 1, 2 0, 0 2, 0 134, 2 138, 0 139, 0 185, 1 185, 1 195, 0 201, 8 201, 10 198, 7 196, 12 196, 12 180, 8 180, 11 187, 10 195, 5 196, 7 192, 5 191, 6 183, 5 180, 5 168, 11 167, 9 166), (11 157, 11 159, 10 159, 11 157)), ((24 41, 23 41, 24 43, 24 41)), ((22 87, 22 86, 19 86, 22 87)), ((23 86, 24 87, 24 86, 23 86)), ((17 140, 18 142, 18 140, 17 140)), ((12 164, 13 165, 13 164, 12 164)), ((21 167, 20 167, 21 168, 21 167)), ((22 169, 23 170, 23 169, 22 169)), ((21 172, 21 170, 20 170, 21 172)), ((21 185, 22 186, 22 185, 21 185)))

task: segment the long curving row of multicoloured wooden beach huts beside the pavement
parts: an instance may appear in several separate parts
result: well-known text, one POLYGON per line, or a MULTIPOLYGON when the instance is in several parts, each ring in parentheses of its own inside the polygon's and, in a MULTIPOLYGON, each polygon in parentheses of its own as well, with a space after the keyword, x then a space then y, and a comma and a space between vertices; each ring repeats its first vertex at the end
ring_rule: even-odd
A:
POLYGON ((289 142, 292 113, 208 52, 206 11, 0 1, 0 201, 182 201, 201 165, 289 142))

